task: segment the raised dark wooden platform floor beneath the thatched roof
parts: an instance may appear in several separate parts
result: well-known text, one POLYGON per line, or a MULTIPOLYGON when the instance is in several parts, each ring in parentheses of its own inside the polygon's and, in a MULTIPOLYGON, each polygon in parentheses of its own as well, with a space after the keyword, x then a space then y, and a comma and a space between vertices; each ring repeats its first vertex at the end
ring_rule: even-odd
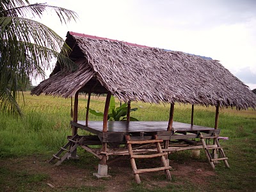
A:
POLYGON ((106 143, 125 143, 125 134, 130 134, 136 140, 152 139, 157 135, 161 140, 188 140, 200 138, 200 132, 205 134, 220 134, 220 129, 204 127, 199 125, 184 124, 173 122, 171 131, 166 131, 168 122, 108 122, 108 131, 103 132, 103 122, 71 121, 74 127, 92 132, 99 137, 101 142, 106 143))

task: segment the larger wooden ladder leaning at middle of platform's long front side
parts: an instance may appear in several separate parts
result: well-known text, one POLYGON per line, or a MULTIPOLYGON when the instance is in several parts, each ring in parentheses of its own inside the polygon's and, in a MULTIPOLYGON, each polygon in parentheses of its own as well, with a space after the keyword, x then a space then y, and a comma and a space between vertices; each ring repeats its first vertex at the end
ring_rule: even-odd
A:
POLYGON ((167 152, 163 152, 162 147, 160 145, 160 142, 163 142, 163 140, 159 140, 157 138, 157 135, 154 136, 154 140, 131 140, 131 136, 129 134, 125 135, 125 140, 127 141, 127 147, 129 151, 129 155, 131 156, 131 166, 132 171, 134 173, 135 180, 137 184, 140 184, 140 173, 146 173, 146 172, 157 172, 164 170, 166 174, 166 178, 168 180, 171 180, 172 177, 170 175, 169 169, 171 168, 167 163, 165 156, 168 155, 167 152), (132 152, 132 144, 149 144, 149 143, 155 143, 157 148, 157 154, 150 154, 150 155, 134 155, 132 152), (137 169, 135 159, 147 159, 147 158, 154 158, 154 157, 161 157, 161 163, 162 167, 157 168, 145 168, 145 169, 137 169))

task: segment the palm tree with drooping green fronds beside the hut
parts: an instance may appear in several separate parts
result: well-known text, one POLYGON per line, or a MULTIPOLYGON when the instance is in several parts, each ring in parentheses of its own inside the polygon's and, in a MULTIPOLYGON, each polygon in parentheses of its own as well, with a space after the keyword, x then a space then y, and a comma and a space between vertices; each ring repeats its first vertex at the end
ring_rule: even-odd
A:
POLYGON ((77 19, 76 12, 45 3, 0 1, 0 111, 22 116, 16 100, 19 87, 44 76, 52 59, 72 66, 67 58, 70 48, 64 40, 44 24, 28 19, 41 18, 47 10, 53 10, 61 23, 77 19))

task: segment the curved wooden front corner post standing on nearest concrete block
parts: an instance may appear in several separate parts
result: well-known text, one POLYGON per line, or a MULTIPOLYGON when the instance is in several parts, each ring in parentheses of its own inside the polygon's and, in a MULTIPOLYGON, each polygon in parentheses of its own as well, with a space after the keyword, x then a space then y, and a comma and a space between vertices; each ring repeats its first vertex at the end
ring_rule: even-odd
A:
MULTIPOLYGON (((105 102, 105 108, 104 108, 104 116, 103 116, 103 130, 102 132, 108 131, 108 108, 109 108, 109 102, 111 98, 111 92, 108 92, 106 102, 105 102)), ((107 144, 102 142, 102 148, 101 151, 106 153, 107 152, 107 144)), ((102 154, 102 159, 100 161, 100 164, 105 165, 107 163, 107 156, 105 154, 102 154)))

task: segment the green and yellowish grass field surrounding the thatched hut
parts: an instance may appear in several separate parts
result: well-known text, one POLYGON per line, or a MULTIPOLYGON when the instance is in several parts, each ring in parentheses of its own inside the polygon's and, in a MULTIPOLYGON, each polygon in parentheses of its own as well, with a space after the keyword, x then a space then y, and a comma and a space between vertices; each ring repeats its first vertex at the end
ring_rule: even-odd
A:
MULTIPOLYGON (((45 185, 51 180, 51 175, 44 173, 30 173, 29 170, 12 170, 3 166, 8 161, 18 161, 30 157, 51 158, 62 145, 67 141, 67 136, 71 134, 70 129, 70 99, 63 99, 51 96, 31 96, 29 92, 24 93, 25 104, 20 98, 20 106, 24 113, 24 118, 13 118, 11 115, 1 113, 0 116, 0 188, 3 191, 49 191, 45 185), (12 179, 10 179, 12 178, 12 179), (7 187, 8 186, 8 187, 7 187), (12 187, 10 187, 12 186, 12 187)), ((118 105, 118 100, 116 100, 118 105)), ((142 102, 132 102, 132 108, 138 111, 131 113, 131 116, 141 121, 163 121, 168 120, 170 105, 167 104, 145 104, 142 102)), ((92 97, 92 109, 103 111, 104 98, 92 97)), ((214 126, 215 108, 205 108, 195 106, 194 123, 207 127, 214 126)), ((79 120, 85 119, 86 98, 79 96, 79 120)), ((175 104, 174 121, 189 123, 191 119, 191 105, 175 104)), ((90 120, 102 120, 97 116, 90 115, 90 120)), ((209 184, 200 191, 255 191, 256 189, 256 111, 248 109, 237 111, 236 109, 221 109, 219 118, 221 136, 228 136, 228 141, 221 141, 228 156, 230 169, 217 166, 215 173, 209 180, 209 184)), ((202 152, 203 154, 203 152, 202 152)), ((204 154, 203 154, 204 155, 204 154)), ((86 160, 81 159, 81 163, 97 164, 93 157, 85 154, 86 160)), ((180 152, 171 157, 173 161, 189 161, 188 152, 180 152)), ((205 157, 200 157, 198 161, 206 163, 205 157)), ((72 163, 70 163, 72 164, 72 163)), ((68 164, 66 164, 68 165, 68 164)), ((42 165, 44 166, 44 165, 42 165)), ((53 166, 50 165, 45 165, 53 166)), ((84 165, 83 165, 84 166, 84 165)), ((210 166, 210 165, 209 165, 210 166)), ((86 166, 85 166, 86 167, 86 166)), ((95 180, 92 178, 92 180, 95 180)), ((109 180, 109 182, 114 182, 109 180)), ((137 186, 133 180, 128 183, 127 191, 196 191, 198 186, 188 182, 180 187, 173 183, 163 187, 148 188, 142 183, 137 186)), ((52 191, 104 191, 104 186, 77 188, 50 188, 52 191)))

